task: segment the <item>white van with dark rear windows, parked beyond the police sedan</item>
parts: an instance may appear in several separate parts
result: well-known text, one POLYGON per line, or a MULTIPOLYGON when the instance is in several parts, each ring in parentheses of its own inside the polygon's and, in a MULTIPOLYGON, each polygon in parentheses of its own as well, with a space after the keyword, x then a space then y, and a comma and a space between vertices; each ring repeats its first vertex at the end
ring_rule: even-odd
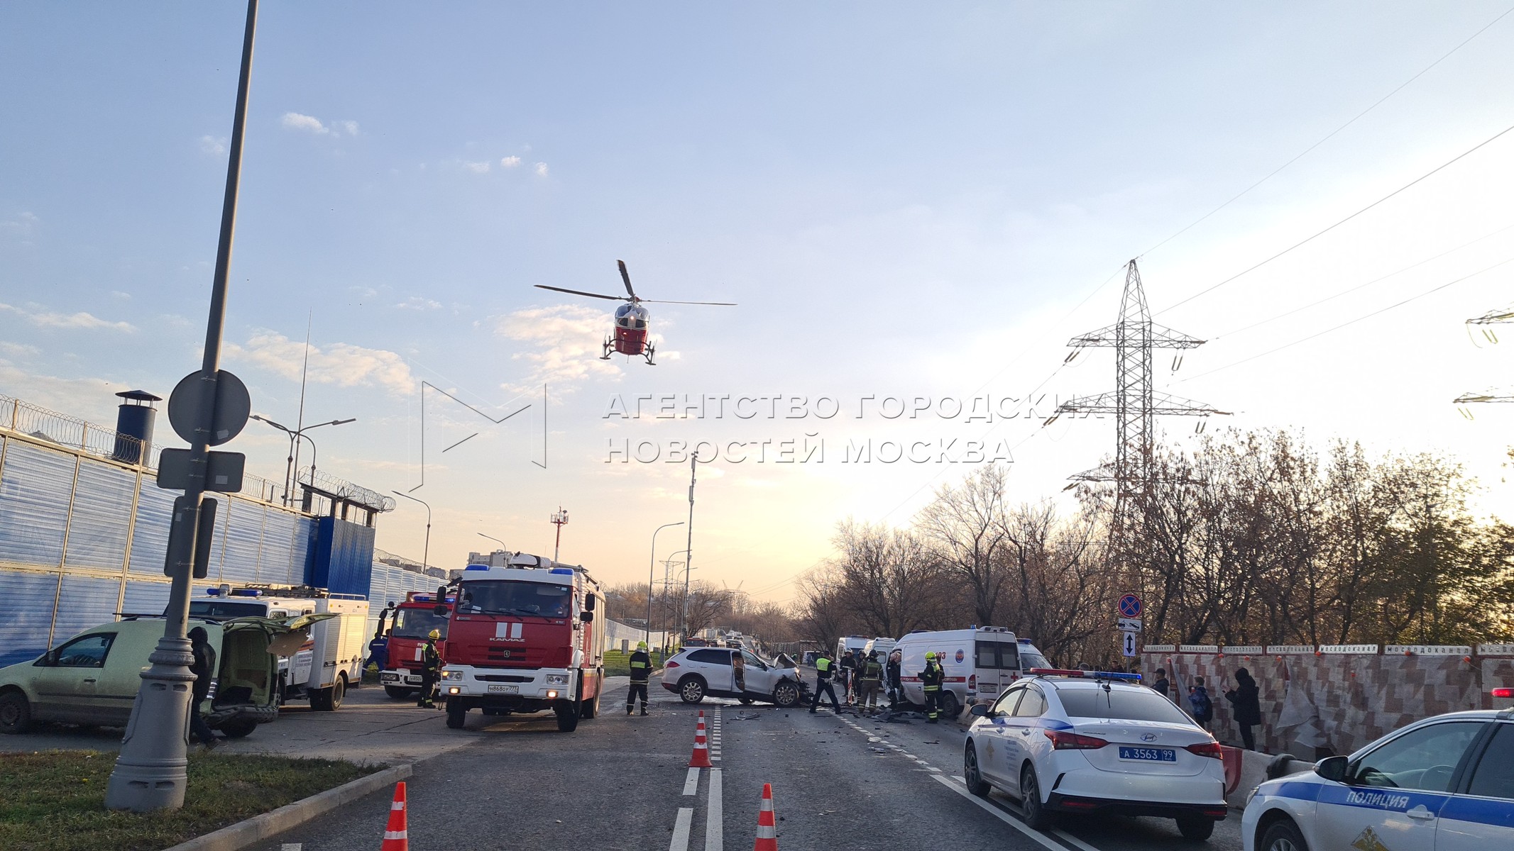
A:
POLYGON ((904 698, 917 706, 925 704, 925 686, 921 685, 925 653, 936 651, 936 661, 945 674, 942 715, 948 718, 955 718, 963 706, 978 700, 998 698, 1001 691, 1031 668, 1051 667, 1030 639, 1014 638, 1002 626, 916 630, 901 638, 895 650, 901 653, 899 682, 904 685, 904 698))

